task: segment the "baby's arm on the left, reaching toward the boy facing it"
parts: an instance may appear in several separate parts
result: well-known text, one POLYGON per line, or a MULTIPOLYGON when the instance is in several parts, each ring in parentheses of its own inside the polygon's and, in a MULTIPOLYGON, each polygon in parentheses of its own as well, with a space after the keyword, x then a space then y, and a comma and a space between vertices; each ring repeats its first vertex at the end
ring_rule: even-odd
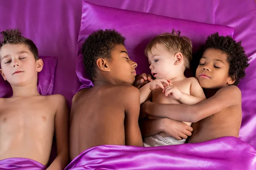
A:
POLYGON ((140 91, 140 104, 145 102, 147 99, 150 98, 151 96, 151 91, 156 90, 156 89, 164 89, 163 83, 166 85, 169 85, 169 82, 171 82, 170 79, 163 77, 160 79, 154 79, 151 82, 148 82, 145 84, 142 88, 139 89, 140 91))

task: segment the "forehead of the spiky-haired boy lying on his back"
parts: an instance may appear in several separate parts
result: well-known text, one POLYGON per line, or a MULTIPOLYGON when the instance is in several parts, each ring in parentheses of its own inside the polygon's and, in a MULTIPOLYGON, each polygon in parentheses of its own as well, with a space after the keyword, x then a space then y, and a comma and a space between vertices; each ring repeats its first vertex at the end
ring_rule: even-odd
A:
POLYGON ((6 44, 1 48, 0 57, 18 54, 21 51, 27 52, 28 54, 32 54, 28 46, 25 44, 6 44))

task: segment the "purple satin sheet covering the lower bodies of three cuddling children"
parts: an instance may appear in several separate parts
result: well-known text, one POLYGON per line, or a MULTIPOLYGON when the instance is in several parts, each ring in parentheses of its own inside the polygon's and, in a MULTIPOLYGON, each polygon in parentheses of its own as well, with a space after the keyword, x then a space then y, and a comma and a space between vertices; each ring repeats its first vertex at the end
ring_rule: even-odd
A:
POLYGON ((102 145, 65 170, 255 170, 256 150, 235 137, 161 147, 102 145))

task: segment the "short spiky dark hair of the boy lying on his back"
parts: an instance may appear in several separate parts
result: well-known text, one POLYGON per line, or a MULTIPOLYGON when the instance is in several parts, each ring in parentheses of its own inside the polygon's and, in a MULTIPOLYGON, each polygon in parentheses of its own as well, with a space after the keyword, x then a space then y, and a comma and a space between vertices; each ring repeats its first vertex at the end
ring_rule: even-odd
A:
POLYGON ((28 38, 22 36, 20 29, 6 29, 5 31, 0 32, 1 40, 0 40, 0 51, 2 47, 6 44, 25 44, 29 47, 29 50, 35 57, 35 60, 38 60, 38 49, 34 42, 28 38))

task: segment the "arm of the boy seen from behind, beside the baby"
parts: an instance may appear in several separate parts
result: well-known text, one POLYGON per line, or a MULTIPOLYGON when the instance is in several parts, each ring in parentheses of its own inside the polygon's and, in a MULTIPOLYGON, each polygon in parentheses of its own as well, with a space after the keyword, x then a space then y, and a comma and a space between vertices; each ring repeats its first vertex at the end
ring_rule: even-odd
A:
POLYGON ((140 91, 134 86, 123 88, 125 103, 125 145, 143 146, 139 127, 140 91))

